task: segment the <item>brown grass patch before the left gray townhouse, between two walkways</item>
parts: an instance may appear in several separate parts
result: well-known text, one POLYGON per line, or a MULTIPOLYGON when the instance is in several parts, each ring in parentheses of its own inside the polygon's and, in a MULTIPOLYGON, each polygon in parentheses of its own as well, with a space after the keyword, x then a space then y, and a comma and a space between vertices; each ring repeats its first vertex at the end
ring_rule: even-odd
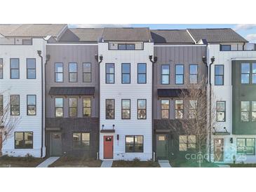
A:
POLYGON ((62 156, 49 167, 100 167, 102 161, 84 157, 62 156))

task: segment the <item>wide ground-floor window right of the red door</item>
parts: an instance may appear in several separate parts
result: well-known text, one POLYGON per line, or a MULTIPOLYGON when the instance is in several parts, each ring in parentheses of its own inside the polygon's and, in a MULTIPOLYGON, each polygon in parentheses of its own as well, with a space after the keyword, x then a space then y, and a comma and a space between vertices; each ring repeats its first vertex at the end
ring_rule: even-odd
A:
POLYGON ((126 153, 143 153, 143 136, 126 135, 126 153))

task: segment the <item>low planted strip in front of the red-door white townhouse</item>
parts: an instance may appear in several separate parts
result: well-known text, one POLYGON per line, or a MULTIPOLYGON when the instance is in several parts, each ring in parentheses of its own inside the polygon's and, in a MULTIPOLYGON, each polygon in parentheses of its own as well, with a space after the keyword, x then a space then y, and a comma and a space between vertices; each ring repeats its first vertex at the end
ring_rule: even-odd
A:
POLYGON ((112 167, 160 167, 160 165, 151 160, 114 160, 112 167))

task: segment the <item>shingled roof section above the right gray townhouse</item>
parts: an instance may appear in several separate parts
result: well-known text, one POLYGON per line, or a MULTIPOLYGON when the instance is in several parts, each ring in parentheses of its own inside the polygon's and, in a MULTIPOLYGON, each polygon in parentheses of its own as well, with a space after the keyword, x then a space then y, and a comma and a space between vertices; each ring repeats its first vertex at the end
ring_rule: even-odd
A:
POLYGON ((186 29, 151 30, 154 43, 194 43, 186 29))

